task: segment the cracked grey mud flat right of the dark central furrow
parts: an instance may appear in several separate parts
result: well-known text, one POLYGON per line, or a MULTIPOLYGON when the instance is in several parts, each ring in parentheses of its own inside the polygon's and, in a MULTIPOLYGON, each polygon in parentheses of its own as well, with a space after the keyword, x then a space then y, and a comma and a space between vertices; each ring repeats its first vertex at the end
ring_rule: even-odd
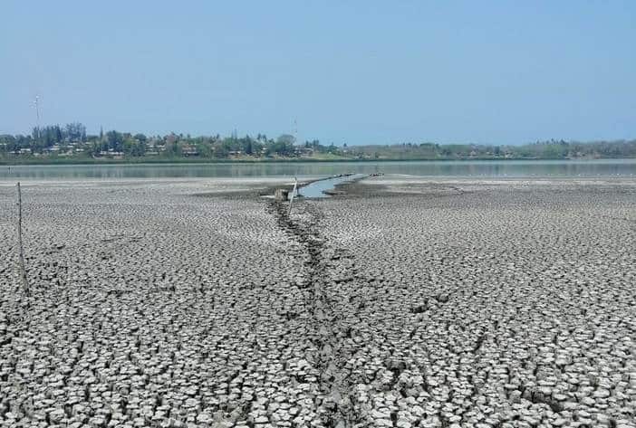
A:
POLYGON ((634 183, 379 182, 320 204, 368 284, 372 424, 632 426, 634 183))

